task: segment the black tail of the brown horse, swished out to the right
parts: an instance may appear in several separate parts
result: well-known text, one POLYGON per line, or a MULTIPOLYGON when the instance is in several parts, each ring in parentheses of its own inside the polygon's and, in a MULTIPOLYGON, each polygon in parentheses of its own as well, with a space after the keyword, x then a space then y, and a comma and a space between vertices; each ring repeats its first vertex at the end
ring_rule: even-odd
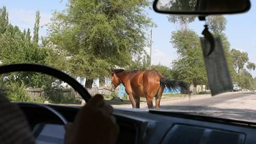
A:
POLYGON ((190 93, 189 85, 183 81, 169 80, 167 78, 160 77, 160 84, 163 84, 170 91, 174 90, 177 92, 177 89, 180 89, 180 91, 185 91, 187 94, 190 93))

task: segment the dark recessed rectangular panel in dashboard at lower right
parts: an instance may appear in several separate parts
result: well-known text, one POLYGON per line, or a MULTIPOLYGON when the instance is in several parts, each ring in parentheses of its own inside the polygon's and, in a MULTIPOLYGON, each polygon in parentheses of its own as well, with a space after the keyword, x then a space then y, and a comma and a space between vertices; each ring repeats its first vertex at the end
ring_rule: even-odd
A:
POLYGON ((245 135, 237 132, 176 124, 163 144, 243 144, 244 140, 245 135))

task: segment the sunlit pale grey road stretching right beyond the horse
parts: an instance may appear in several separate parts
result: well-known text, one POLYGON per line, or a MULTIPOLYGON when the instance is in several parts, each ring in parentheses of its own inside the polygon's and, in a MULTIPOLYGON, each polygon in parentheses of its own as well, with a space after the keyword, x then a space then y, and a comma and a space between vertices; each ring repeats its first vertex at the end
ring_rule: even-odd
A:
MULTIPOLYGON (((113 107, 131 108, 131 105, 113 107)), ((147 108, 145 103, 141 108, 147 108)), ((202 112, 205 115, 256 122, 256 92, 226 92, 221 95, 202 95, 161 101, 161 109, 202 112)))

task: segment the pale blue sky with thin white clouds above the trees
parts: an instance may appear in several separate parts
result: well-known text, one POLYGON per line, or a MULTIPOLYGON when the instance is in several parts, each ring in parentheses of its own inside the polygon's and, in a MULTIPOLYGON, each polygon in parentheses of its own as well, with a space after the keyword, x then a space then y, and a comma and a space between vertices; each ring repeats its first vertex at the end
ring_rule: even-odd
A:
MULTIPOLYGON (((43 26, 50 22, 52 17, 52 10, 61 11, 65 9, 65 2, 63 0, 0 0, 0 7, 4 5, 9 12, 9 22, 17 25, 20 29, 31 30, 35 23, 35 11, 40 10, 41 21, 40 25, 43 26)), ((254 8, 255 0, 251 1, 251 9, 247 13, 225 15, 227 18, 227 26, 225 33, 230 41, 231 49, 239 49, 247 52, 251 62, 256 63, 256 8, 254 8)), ((166 14, 158 14, 154 10, 148 11, 148 16, 151 17, 157 24, 157 28, 153 29, 153 45, 152 45, 152 64, 161 63, 166 66, 171 66, 172 60, 177 58, 175 49, 170 43, 171 32, 177 30, 178 26, 169 23, 166 14)), ((189 24, 190 29, 194 29, 198 35, 204 29, 204 22, 195 20, 189 24)), ((41 28, 39 35, 46 36, 46 28, 41 28)), ((146 48, 149 53, 149 48, 146 48)), ((251 71, 253 77, 256 76, 256 71, 251 71)))

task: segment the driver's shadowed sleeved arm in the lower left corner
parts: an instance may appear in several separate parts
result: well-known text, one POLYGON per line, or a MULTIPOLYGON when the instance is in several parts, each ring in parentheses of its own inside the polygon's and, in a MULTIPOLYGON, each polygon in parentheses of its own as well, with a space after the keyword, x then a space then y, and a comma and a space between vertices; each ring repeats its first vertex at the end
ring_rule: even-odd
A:
POLYGON ((23 111, 0 95, 0 144, 35 144, 23 111))

